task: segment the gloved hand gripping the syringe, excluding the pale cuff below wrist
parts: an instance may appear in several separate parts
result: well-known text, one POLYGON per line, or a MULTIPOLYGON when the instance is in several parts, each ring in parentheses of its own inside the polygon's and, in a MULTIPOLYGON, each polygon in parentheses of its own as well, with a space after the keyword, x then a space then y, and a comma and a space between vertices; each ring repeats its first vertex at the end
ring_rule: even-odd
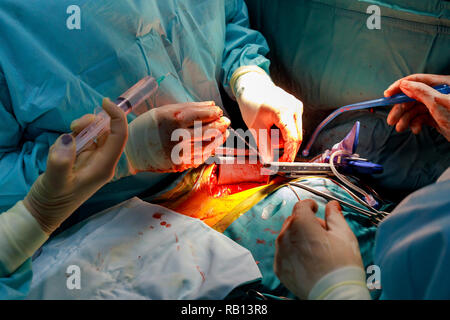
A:
POLYGON ((75 120, 70 134, 62 135, 50 148, 47 170, 32 185, 24 199, 27 210, 51 234, 81 204, 112 179, 127 140, 125 114, 109 99, 103 110, 111 117, 110 133, 76 156, 74 136, 95 118, 75 120))

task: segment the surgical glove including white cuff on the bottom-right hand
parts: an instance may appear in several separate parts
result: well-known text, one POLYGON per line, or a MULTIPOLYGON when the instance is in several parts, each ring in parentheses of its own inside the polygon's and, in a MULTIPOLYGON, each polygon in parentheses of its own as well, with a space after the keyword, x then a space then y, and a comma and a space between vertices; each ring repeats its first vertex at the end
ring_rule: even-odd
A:
POLYGON ((317 209, 311 199, 299 201, 284 222, 276 241, 276 275, 301 299, 370 298, 358 241, 339 203, 327 204, 325 221, 315 216, 317 209))

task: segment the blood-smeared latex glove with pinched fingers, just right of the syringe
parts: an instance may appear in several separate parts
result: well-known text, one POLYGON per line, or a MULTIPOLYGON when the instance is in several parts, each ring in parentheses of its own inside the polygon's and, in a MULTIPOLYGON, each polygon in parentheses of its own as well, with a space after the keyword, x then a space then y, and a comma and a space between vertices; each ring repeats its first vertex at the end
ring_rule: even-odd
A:
POLYGON ((214 102, 149 110, 129 126, 125 154, 130 171, 180 172, 198 167, 225 142, 229 125, 214 102))

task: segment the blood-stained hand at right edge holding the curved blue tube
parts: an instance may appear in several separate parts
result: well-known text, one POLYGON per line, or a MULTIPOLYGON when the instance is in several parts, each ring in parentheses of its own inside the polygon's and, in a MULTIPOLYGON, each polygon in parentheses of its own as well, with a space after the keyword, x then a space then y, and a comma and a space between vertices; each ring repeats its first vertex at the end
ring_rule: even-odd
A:
POLYGON ((435 127, 450 141, 450 95, 441 94, 432 87, 440 84, 450 85, 450 76, 434 74, 413 74, 397 80, 385 92, 386 97, 402 91, 417 102, 395 105, 388 115, 387 123, 395 125, 398 132, 408 127, 419 134, 422 125, 435 127))

